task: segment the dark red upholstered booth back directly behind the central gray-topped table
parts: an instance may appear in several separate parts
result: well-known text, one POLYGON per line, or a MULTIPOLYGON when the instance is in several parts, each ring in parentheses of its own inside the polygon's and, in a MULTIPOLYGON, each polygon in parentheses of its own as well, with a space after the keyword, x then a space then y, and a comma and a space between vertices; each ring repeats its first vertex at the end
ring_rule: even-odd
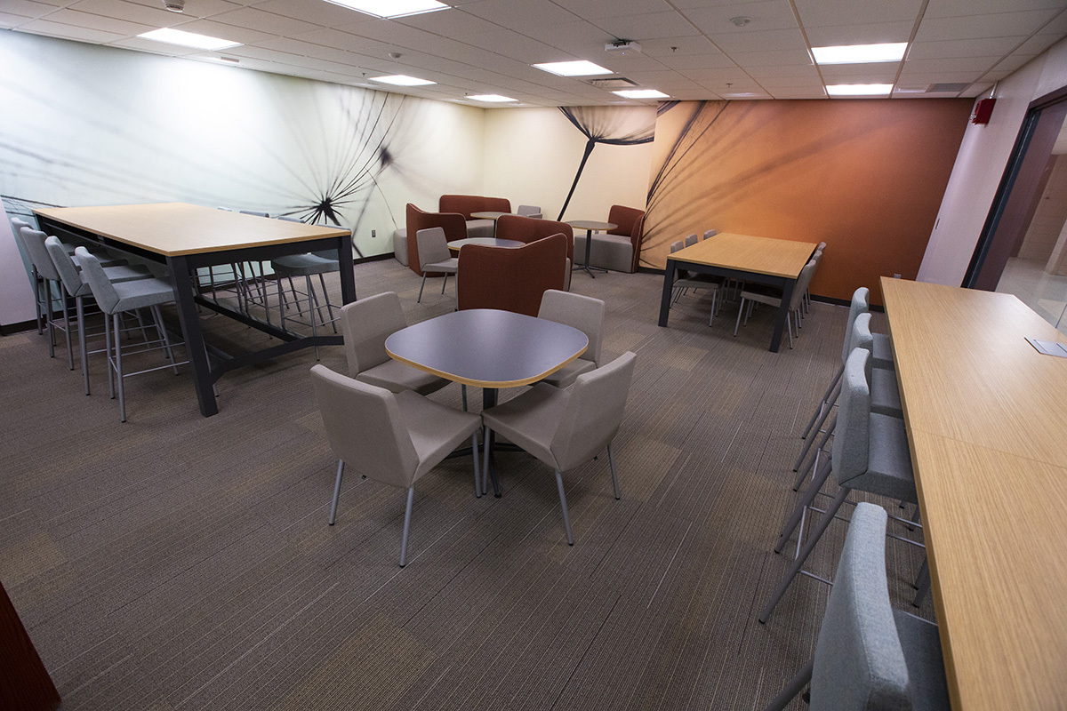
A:
POLYGON ((460 252, 456 288, 459 309, 497 308, 537 316, 548 289, 563 289, 567 276, 563 235, 514 249, 469 244, 460 252))

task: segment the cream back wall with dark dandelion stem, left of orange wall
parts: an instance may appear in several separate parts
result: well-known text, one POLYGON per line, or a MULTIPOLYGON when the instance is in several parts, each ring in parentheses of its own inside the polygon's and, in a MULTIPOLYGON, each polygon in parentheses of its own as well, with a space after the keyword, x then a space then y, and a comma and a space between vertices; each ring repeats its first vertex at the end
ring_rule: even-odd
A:
MULTIPOLYGON (((626 108, 636 122, 655 122, 655 107, 626 108)), ((484 195, 540 206, 555 220, 571 189, 586 136, 558 109, 488 109, 484 195)), ((612 205, 644 209, 652 144, 593 148, 563 220, 607 220, 612 205)))

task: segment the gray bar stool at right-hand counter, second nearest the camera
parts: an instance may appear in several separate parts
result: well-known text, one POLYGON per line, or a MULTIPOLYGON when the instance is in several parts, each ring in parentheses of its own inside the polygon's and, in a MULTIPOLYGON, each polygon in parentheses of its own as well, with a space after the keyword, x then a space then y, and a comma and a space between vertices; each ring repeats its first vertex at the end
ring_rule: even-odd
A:
MULTIPOLYGON (((842 378, 841 405, 831 455, 824 460, 814 481, 794 508, 782 535, 778 538, 775 552, 782 552, 797 524, 800 523, 805 511, 818 495, 831 472, 841 488, 826 506, 818 524, 808 536, 778 588, 760 612, 761 623, 767 621, 775 605, 781 600, 853 489, 908 503, 919 501, 904 421, 871 411, 870 368, 871 354, 867 351, 856 349, 849 354, 842 378)), ((803 538, 801 531, 799 539, 803 538)))

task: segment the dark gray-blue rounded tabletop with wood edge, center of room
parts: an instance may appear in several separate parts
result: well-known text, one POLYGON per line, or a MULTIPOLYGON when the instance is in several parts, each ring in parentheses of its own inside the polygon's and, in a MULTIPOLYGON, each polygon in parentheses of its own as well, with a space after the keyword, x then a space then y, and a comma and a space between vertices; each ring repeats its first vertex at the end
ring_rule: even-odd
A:
POLYGON ((452 311, 385 339, 391 357, 479 388, 537 383, 589 348, 577 328, 497 309, 452 311))

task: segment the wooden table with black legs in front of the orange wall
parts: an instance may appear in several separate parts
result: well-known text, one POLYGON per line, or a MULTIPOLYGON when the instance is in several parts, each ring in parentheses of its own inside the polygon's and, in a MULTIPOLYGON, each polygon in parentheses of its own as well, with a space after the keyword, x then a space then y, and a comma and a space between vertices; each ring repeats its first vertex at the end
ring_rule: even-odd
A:
POLYGON ((775 330, 770 336, 770 350, 778 353, 793 288, 800 276, 800 270, 815 252, 815 246, 813 242, 719 232, 708 240, 679 249, 667 258, 663 297, 659 302, 659 325, 667 325, 674 271, 679 266, 739 281, 767 284, 782 290, 782 305, 778 308, 775 330))

